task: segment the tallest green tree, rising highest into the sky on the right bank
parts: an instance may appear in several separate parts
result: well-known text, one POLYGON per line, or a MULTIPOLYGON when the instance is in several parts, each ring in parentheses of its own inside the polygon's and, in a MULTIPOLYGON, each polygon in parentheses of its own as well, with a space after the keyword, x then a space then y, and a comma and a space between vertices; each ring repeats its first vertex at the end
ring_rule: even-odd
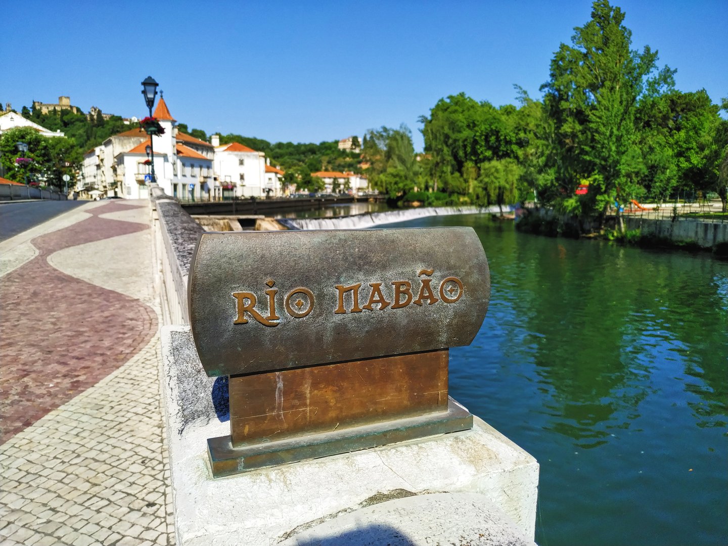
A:
POLYGON ((582 178, 598 175, 601 182, 590 186, 582 213, 601 218, 610 204, 628 202, 641 189, 637 182, 645 167, 638 148, 638 101, 673 84, 673 71, 657 72, 656 51, 649 46, 641 53, 630 50, 632 33, 624 19, 619 7, 595 1, 591 20, 574 29, 571 46, 561 44, 542 86, 555 124, 556 182, 566 196, 561 204, 582 178))

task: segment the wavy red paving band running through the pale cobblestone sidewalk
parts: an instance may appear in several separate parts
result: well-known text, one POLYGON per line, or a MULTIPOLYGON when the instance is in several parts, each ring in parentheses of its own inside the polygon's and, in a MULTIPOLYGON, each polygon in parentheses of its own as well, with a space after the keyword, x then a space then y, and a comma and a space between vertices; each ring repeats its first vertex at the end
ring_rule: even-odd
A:
POLYGON ((0 280, 0 443, 119 368, 157 331, 149 306, 47 262, 63 248, 149 229, 98 218, 129 208, 96 207, 92 218, 36 237, 39 256, 0 280))

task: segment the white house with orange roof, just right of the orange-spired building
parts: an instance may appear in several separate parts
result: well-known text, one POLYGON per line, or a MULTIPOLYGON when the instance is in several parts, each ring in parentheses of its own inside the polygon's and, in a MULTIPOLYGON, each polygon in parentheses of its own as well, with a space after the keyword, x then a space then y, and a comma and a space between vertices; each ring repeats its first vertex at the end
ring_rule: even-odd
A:
MULTIPOLYGON (((221 189, 219 197, 265 197, 265 154, 237 142, 219 146, 218 135, 213 135, 212 141, 215 146, 216 186, 221 189)), ((278 187, 280 191, 280 185, 278 187)))

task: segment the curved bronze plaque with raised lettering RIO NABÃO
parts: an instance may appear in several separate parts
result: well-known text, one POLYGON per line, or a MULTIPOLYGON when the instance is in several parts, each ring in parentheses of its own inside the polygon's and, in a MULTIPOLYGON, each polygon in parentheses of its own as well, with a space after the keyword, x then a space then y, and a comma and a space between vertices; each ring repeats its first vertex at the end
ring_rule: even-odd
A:
POLYGON ((467 345, 489 296, 469 227, 205 233, 189 274, 208 376, 467 345))

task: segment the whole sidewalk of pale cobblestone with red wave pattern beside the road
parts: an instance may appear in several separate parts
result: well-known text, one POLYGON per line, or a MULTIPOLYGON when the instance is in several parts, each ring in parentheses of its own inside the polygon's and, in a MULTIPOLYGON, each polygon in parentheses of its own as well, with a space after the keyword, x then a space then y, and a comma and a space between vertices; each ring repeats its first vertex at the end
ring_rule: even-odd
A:
POLYGON ((44 226, 0 245, 0 544, 171 545, 149 203, 44 226))

